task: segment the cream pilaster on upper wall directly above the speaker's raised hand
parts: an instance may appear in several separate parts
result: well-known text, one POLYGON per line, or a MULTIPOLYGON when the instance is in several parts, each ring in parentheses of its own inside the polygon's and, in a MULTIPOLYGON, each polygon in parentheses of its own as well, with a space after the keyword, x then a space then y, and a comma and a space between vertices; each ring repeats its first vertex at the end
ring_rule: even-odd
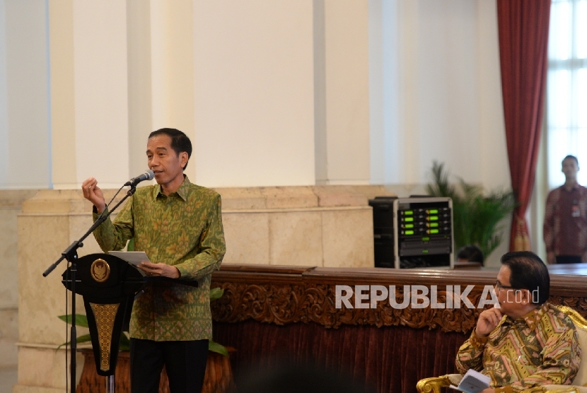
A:
POLYGON ((129 179, 127 8, 124 1, 51 1, 53 187, 129 179))

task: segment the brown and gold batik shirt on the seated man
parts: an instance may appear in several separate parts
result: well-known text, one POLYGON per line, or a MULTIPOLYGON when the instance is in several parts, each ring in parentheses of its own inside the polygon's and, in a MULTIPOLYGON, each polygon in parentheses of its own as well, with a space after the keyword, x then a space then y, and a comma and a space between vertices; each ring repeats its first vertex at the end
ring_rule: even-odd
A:
POLYGON ((516 320, 504 316, 481 338, 473 330, 460 347, 461 374, 480 371, 498 392, 521 392, 540 385, 569 385, 579 370, 581 347, 575 325, 564 312, 545 303, 516 320))

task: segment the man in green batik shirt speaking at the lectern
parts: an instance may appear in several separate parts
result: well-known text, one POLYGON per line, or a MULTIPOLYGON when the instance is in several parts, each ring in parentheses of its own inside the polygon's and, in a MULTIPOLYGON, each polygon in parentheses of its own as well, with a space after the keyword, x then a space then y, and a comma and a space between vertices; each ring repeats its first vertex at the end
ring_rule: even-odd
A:
MULTIPOLYGON (((158 129, 147 141, 156 185, 136 189, 114 222, 94 231, 103 251, 122 250, 134 238, 136 251, 151 262, 139 266, 149 276, 198 280, 199 286, 149 283, 130 320, 131 390, 157 393, 163 365, 171 393, 200 392, 208 340, 212 338, 210 276, 219 269, 226 245, 220 195, 192 184, 183 174, 192 154, 190 139, 178 129, 158 129)), ((83 182, 83 197, 94 205, 94 221, 106 209, 98 182, 83 182)))

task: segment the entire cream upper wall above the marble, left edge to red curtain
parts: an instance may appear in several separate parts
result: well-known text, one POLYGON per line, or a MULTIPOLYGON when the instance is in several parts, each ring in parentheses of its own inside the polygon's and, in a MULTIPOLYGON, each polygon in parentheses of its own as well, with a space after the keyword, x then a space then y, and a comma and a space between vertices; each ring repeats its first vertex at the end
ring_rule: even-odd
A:
POLYGON ((209 187, 509 184, 494 0, 1 4, 2 188, 117 187, 159 127, 209 187))

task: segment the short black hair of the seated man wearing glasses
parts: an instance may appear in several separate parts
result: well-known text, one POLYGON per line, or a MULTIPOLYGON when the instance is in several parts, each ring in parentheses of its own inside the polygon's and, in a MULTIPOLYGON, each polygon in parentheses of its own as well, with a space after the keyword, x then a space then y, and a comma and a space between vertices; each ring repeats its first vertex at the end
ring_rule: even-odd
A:
POLYGON ((537 299, 532 303, 541 305, 550 297, 550 275, 542 259, 530 251, 508 252, 501 257, 501 264, 511 271, 510 285, 514 289, 538 291, 537 299))

